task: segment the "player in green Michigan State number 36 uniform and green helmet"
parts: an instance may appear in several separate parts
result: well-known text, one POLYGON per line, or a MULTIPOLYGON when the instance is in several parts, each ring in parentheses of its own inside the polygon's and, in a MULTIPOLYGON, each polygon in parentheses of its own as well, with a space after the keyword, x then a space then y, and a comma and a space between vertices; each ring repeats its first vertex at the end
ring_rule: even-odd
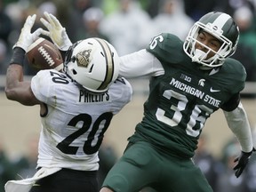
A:
POLYGON ((228 58, 238 38, 228 14, 209 12, 185 42, 160 34, 146 49, 121 57, 121 76, 150 76, 149 95, 143 119, 100 192, 137 192, 146 186, 159 192, 212 192, 191 158, 206 119, 219 108, 241 145, 234 167, 236 177, 241 175, 253 146, 239 96, 246 73, 238 60, 228 58))

